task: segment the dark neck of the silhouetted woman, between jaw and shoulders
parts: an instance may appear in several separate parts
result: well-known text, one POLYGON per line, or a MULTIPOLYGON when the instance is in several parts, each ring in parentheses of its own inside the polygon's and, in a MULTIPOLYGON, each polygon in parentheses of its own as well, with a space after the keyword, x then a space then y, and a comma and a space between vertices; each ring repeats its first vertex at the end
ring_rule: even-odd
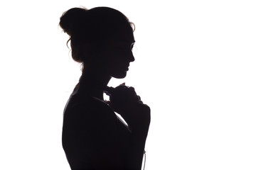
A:
POLYGON ((84 71, 80 78, 80 92, 85 92, 103 100, 103 90, 110 81, 110 76, 105 76, 97 72, 84 71))

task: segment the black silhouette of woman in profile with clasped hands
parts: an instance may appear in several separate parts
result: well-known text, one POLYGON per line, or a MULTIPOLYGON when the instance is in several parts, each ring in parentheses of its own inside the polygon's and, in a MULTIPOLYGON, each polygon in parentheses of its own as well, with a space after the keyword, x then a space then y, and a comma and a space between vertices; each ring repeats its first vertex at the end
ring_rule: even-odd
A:
POLYGON ((82 76, 64 110, 63 149, 71 169, 141 169, 150 108, 133 87, 107 87, 134 61, 132 23, 108 7, 71 8, 60 17, 82 76), (103 99, 107 91, 110 101, 103 99), (124 124, 117 115, 124 118, 124 124))

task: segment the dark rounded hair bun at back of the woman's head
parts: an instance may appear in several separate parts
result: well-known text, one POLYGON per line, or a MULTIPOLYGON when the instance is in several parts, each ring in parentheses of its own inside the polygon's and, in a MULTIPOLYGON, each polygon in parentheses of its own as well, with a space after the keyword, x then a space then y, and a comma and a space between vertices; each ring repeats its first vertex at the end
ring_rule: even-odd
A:
POLYGON ((74 30, 78 28, 78 24, 86 11, 86 8, 70 8, 68 11, 65 11, 60 17, 60 27, 68 35, 73 35, 74 30))

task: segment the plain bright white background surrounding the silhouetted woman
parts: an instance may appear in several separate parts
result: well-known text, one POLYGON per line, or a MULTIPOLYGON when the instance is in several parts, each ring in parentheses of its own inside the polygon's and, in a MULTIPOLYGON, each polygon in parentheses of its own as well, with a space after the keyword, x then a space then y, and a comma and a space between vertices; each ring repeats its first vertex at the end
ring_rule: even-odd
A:
POLYGON ((63 169, 63 108, 80 77, 58 28, 69 8, 110 6, 136 25, 127 78, 151 107, 146 170, 256 169, 256 4, 1 1, 0 169, 63 169))

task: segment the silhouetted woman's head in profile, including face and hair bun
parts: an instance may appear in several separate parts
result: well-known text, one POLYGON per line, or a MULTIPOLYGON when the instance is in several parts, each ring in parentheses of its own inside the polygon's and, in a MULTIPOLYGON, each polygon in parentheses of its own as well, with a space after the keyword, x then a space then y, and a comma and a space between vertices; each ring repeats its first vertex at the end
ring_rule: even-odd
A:
POLYGON ((70 35, 73 60, 83 67, 109 69, 110 74, 117 74, 111 67, 128 67, 134 60, 132 23, 113 8, 71 8, 60 17, 60 27, 70 35))

